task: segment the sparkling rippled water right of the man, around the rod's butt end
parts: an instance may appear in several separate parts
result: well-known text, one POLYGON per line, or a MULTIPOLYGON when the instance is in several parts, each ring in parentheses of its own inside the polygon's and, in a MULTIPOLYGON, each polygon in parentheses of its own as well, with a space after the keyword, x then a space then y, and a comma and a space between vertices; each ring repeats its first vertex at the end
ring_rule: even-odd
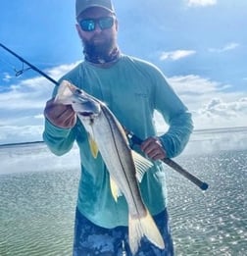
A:
POLYGON ((170 177, 177 255, 247 255, 247 151, 191 156, 181 164, 210 188, 202 193, 181 177, 170 177))

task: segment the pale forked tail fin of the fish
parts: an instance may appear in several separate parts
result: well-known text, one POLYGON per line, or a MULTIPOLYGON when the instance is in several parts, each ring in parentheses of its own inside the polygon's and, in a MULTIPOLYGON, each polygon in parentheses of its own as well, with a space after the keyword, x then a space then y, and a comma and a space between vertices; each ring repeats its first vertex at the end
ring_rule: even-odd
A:
POLYGON ((165 248, 164 239, 158 230, 152 216, 147 211, 146 216, 140 219, 128 218, 129 247, 134 255, 140 245, 141 238, 145 235, 153 244, 160 249, 165 248))

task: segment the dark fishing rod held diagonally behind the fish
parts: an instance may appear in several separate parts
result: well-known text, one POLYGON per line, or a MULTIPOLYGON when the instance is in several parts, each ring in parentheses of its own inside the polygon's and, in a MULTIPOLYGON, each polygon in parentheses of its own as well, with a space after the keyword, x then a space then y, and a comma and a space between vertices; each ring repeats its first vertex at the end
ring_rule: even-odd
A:
MULTIPOLYGON (((53 82, 56 85, 59 85, 58 81, 56 81, 55 79, 53 79, 52 77, 47 76, 45 73, 43 73, 42 71, 40 71, 38 68, 36 68, 35 66, 33 66, 32 64, 28 63, 24 58, 22 58, 21 56, 19 56, 18 54, 16 54, 15 52, 13 52, 12 50, 10 50, 9 48, 7 48, 5 45, 3 45, 2 43, 0 43, 0 46, 2 48, 4 48, 6 51, 8 51, 9 53, 11 53, 12 55, 14 55, 15 57, 17 57, 20 61, 22 61, 23 63, 25 63, 28 67, 30 67, 33 71, 39 73, 42 77, 47 78, 48 80, 50 80, 51 82, 53 82)), ((131 141, 137 145, 140 145, 143 140, 141 140, 139 137, 137 137, 135 134, 133 134, 131 131, 128 131, 125 129, 126 135, 131 139, 131 141)), ((172 159, 170 158, 164 158, 162 160, 165 164, 167 164, 168 166, 170 166, 173 170, 175 170, 176 172, 178 172, 180 175, 182 175, 183 177, 185 177, 186 179, 189 179, 190 181, 192 181, 194 184, 196 184, 198 187, 200 187, 202 190, 207 190, 209 185, 206 182, 203 182, 202 180, 196 178, 195 176, 191 175, 188 171, 184 170, 181 166, 179 166, 177 163, 175 163, 172 159)))

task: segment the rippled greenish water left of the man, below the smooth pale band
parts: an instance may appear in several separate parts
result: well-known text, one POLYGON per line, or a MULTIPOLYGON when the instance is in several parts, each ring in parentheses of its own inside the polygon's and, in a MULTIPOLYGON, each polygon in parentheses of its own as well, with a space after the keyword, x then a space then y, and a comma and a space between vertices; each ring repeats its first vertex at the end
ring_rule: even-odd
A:
POLYGON ((0 255, 71 255, 75 173, 1 178, 0 255))

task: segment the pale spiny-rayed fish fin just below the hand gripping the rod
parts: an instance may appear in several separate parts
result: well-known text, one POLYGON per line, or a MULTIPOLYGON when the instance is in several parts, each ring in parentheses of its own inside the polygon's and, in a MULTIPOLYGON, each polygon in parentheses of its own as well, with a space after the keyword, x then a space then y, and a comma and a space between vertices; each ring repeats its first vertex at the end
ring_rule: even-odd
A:
POLYGON ((137 152, 131 150, 132 156, 133 156, 133 161, 135 165, 135 170, 136 170, 136 179, 141 182, 144 174, 148 169, 154 166, 154 164, 143 157, 142 155, 138 154, 137 152))

